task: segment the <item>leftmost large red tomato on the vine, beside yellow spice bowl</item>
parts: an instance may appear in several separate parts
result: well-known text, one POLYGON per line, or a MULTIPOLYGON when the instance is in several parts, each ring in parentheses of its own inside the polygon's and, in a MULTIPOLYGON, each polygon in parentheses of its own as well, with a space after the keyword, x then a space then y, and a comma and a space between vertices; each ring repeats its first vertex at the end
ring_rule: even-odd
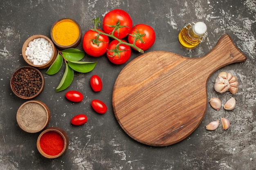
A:
MULTIPOLYGON (((101 31, 99 29, 97 30, 101 31)), ((93 57, 99 57, 103 55, 106 53, 108 47, 108 36, 101 34, 99 35, 99 39, 96 40, 97 35, 98 33, 96 31, 89 30, 83 36, 83 50, 85 53, 93 57)))

